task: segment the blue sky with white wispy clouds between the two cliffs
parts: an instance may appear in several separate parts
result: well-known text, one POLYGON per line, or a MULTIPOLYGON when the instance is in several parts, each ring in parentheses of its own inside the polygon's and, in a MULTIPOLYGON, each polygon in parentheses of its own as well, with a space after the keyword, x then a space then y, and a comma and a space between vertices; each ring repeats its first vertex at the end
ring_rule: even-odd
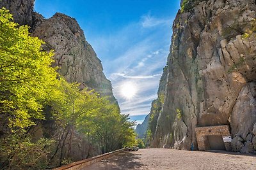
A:
POLYGON ((45 18, 61 12, 76 18, 102 61, 121 112, 142 122, 157 97, 180 0, 36 0, 45 18), (132 83, 132 99, 122 87, 132 83))

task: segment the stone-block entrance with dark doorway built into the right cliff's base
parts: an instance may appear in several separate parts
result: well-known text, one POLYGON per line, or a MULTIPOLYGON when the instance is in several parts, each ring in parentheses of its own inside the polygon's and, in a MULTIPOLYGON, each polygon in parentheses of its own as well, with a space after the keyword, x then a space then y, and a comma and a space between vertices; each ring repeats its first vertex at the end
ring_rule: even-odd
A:
POLYGON ((196 127, 195 131, 198 150, 231 150, 231 143, 224 143, 222 139, 230 136, 228 125, 196 127))

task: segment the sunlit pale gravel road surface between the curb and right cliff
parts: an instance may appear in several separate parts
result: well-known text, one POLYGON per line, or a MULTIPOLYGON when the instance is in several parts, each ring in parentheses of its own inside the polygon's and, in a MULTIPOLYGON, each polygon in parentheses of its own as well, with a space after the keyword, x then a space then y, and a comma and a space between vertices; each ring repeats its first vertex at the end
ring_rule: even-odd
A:
POLYGON ((256 155, 234 152, 199 152, 140 149, 101 160, 86 169, 256 169, 256 155))

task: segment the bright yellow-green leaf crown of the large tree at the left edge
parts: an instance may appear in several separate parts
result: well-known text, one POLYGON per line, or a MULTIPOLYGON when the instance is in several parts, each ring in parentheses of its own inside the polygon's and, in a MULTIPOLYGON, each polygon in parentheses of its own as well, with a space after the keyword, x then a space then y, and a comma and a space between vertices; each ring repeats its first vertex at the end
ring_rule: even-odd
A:
POLYGON ((29 36, 4 8, 0 10, 0 113, 9 127, 25 128, 43 119, 42 108, 56 83, 52 52, 42 52, 43 41, 29 36))

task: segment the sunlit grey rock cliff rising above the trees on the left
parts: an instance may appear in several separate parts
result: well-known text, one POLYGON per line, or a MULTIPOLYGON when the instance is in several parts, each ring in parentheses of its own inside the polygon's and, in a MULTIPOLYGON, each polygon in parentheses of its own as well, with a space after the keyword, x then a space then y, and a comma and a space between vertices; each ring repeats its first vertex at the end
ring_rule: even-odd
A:
POLYGON ((44 50, 54 50, 53 66, 60 67, 58 72, 68 82, 81 83, 81 89, 95 89, 116 103, 111 83, 102 72, 102 64, 76 19, 62 13, 45 19, 33 11, 34 3, 35 0, 4 0, 0 2, 0 8, 4 6, 10 10, 20 25, 29 25, 31 35, 46 42, 44 50))

